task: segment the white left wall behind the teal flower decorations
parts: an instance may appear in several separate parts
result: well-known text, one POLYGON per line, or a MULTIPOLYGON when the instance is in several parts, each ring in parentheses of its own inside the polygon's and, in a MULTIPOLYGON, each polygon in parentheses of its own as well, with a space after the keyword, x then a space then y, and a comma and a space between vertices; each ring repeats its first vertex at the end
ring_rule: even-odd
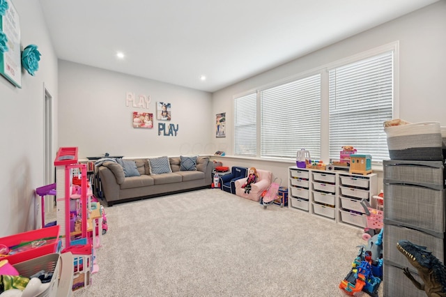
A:
POLYGON ((20 15, 22 46, 37 45, 42 57, 35 76, 22 72, 22 89, 0 76, 0 237, 36 227, 34 190, 45 185, 44 84, 57 109, 57 59, 39 2, 13 4, 20 15))

